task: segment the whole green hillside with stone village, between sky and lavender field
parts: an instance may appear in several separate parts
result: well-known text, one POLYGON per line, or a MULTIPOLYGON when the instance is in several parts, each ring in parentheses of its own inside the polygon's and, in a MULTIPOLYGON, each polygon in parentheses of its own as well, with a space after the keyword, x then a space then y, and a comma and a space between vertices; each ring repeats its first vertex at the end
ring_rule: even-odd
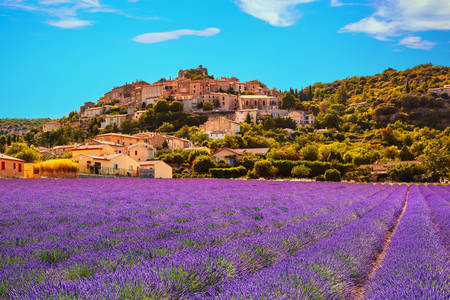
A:
POLYGON ((446 180, 449 95, 449 68, 431 64, 289 91, 199 66, 1 135, 0 177, 70 160, 73 176, 446 180))

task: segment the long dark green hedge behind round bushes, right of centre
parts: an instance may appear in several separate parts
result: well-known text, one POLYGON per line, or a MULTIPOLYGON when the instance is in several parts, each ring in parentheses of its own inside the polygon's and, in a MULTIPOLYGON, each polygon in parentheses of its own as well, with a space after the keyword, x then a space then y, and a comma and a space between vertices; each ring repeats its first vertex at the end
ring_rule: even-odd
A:
POLYGON ((324 161, 309 160, 274 160, 272 164, 278 168, 278 177, 291 177, 292 169, 296 166, 306 166, 311 169, 309 177, 313 178, 325 174, 328 169, 336 169, 345 174, 353 168, 352 164, 330 163, 324 161))

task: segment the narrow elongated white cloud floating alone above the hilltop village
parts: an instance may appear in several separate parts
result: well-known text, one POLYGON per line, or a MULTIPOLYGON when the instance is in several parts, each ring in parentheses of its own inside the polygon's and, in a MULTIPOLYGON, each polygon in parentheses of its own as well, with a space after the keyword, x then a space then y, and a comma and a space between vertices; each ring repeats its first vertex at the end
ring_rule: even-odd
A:
POLYGON ((133 41, 144 44, 160 43, 168 40, 175 40, 185 35, 213 36, 220 32, 218 28, 206 28, 204 30, 181 29, 168 32, 144 33, 133 38, 133 41))

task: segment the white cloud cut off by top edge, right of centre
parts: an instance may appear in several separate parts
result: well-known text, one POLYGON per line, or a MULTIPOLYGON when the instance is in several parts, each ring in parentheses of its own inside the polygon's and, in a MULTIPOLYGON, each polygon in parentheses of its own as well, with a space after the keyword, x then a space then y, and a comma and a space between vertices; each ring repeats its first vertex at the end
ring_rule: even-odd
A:
POLYGON ((272 26, 288 27, 301 17, 296 9, 302 3, 316 0, 235 0, 241 10, 272 26))

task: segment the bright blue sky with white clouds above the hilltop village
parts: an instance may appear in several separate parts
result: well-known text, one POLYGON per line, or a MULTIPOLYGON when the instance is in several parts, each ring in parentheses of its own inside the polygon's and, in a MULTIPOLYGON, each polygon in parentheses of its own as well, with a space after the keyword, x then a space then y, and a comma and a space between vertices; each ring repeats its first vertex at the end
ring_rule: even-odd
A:
POLYGON ((301 88, 450 62, 448 0, 0 0, 0 118, 58 118, 202 64, 301 88))

